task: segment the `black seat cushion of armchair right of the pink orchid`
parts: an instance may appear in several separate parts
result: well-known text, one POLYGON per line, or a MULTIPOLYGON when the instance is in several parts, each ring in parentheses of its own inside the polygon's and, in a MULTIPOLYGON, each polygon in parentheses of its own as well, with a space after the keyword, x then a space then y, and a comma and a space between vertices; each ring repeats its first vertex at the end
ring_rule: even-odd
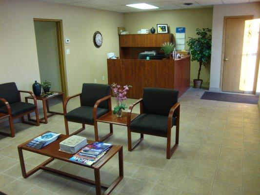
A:
MULTIPOLYGON (((141 114, 130 124, 131 130, 149 132, 153 134, 167 134, 168 117, 164 115, 141 114)), ((172 119, 172 127, 176 124, 176 118, 172 119)))

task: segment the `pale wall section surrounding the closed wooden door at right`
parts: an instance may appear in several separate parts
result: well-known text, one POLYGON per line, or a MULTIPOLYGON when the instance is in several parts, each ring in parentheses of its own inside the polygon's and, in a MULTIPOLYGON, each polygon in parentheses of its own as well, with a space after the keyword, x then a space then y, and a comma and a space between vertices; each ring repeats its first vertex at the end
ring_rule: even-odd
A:
POLYGON ((254 15, 254 19, 260 18, 260 2, 240 3, 227 5, 214 5, 213 8, 213 32, 210 90, 220 90, 220 71, 222 53, 222 33, 224 16, 254 15))

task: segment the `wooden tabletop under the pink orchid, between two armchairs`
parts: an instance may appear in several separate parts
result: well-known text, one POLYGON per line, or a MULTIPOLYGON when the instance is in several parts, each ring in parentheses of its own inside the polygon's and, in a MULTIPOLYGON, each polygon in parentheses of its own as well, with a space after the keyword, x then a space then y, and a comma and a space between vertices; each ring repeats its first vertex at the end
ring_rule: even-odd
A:
MULTIPOLYGON (((132 113, 131 121, 138 116, 139 116, 139 114, 132 113)), ((110 111, 109 113, 103 115, 102 117, 97 118, 96 121, 109 123, 109 124, 115 124, 115 125, 127 126, 127 112, 122 112, 122 117, 117 117, 117 115, 113 114, 113 111, 110 111)))

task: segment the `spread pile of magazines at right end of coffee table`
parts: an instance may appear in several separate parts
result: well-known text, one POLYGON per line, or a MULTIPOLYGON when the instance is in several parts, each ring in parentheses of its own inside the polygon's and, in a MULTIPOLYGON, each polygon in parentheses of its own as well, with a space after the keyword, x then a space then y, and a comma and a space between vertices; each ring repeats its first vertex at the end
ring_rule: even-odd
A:
POLYGON ((92 165, 104 156, 111 146, 112 144, 110 143, 94 142, 82 148, 70 160, 84 165, 92 165))

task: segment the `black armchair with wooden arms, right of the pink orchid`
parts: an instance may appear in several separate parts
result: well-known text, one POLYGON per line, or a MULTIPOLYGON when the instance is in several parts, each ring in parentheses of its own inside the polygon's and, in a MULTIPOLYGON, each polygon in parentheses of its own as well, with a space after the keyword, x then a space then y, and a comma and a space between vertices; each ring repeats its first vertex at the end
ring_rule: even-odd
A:
POLYGON ((166 158, 170 159, 179 144, 180 103, 179 91, 162 88, 144 88, 143 98, 131 104, 127 113, 128 151, 140 144, 143 134, 167 137, 166 158), (140 103, 140 115, 131 121, 132 109, 140 103), (176 126, 175 145, 171 148, 171 129, 176 126), (132 147, 131 132, 140 133, 132 147))

